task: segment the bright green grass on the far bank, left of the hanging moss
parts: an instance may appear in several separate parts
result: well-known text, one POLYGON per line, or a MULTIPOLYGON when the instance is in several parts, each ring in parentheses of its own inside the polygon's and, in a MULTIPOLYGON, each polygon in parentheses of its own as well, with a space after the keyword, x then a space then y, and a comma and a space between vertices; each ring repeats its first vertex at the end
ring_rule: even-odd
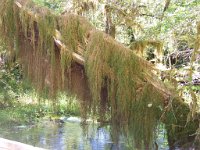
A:
POLYGON ((51 101, 39 97, 33 90, 18 95, 10 102, 11 105, 0 109, 0 126, 35 124, 48 117, 80 116, 78 100, 66 93, 58 94, 56 109, 51 101))

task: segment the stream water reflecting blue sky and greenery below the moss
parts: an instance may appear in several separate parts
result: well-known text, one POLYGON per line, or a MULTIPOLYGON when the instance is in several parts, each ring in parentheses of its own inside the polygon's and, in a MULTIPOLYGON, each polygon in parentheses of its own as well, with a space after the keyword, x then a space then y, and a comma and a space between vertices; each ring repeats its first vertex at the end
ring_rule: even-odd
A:
MULTIPOLYGON (((78 119, 77 119, 78 120, 78 119)), ((50 150, 128 150, 121 135, 118 143, 112 141, 109 126, 98 127, 88 124, 83 127, 79 121, 66 121, 64 124, 43 122, 34 126, 4 126, 0 128, 0 137, 19 141, 50 150)), ((156 143, 159 149, 169 149, 165 129, 158 128, 156 143)))

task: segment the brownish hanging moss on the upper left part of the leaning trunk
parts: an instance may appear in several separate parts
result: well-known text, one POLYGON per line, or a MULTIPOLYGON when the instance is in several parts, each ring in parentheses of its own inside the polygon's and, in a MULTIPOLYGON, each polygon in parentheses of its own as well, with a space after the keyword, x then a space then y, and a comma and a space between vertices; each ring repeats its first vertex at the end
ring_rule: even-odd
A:
MULTIPOLYGON (((83 35, 86 34, 84 32, 86 32, 87 26, 80 26, 84 20, 78 17, 70 17, 70 15, 69 17, 58 17, 46 8, 36 7, 29 0, 19 2, 22 4, 20 10, 15 7, 14 1, 2 1, 1 32, 3 37, 7 37, 5 42, 11 46, 10 49, 15 49, 18 40, 21 41, 21 44, 24 38, 26 38, 26 42, 30 41, 33 51, 29 54, 33 56, 27 55, 26 51, 28 50, 20 52, 20 60, 25 64, 27 61, 29 62, 25 65, 27 75, 38 91, 42 92, 45 86, 48 86, 50 95, 56 95, 57 91, 61 89, 61 85, 64 84, 65 70, 69 69, 72 58, 67 55, 66 50, 62 49, 56 52, 53 39, 55 29, 63 32, 62 42, 67 45, 66 48, 75 51, 78 50, 79 43, 83 45, 85 42, 83 35), (18 11, 15 15, 14 8, 15 11, 18 11), (18 33, 16 33, 16 28, 18 33), (50 66, 46 65, 47 62, 50 63, 50 66), (45 68, 47 66, 49 69, 45 68), (59 77, 59 73, 62 74, 62 78, 59 77), (49 85, 45 85, 45 80, 48 80, 49 85)), ((22 46, 21 49, 23 49, 22 46)))

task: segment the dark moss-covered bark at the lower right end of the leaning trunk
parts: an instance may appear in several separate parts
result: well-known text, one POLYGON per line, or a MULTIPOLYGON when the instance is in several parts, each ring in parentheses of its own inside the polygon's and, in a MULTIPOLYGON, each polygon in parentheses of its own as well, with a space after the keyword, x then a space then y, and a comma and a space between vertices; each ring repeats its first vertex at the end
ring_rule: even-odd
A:
MULTIPOLYGON (((168 111, 164 118, 168 142, 171 149, 174 149, 177 145, 184 145, 185 142, 194 141, 196 131, 199 128, 198 116, 193 120, 188 120, 190 109, 186 103, 175 98, 171 102, 170 111, 168 111)), ((197 143, 198 144, 198 143, 197 143)), ((194 143, 192 144, 194 145, 194 143)))

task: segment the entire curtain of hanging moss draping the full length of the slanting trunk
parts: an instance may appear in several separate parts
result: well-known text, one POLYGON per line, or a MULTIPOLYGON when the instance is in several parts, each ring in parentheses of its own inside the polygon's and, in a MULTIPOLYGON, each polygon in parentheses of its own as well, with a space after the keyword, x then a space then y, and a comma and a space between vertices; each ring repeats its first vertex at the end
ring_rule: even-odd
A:
MULTIPOLYGON (((163 111, 171 113, 175 109, 176 116, 181 113, 186 116, 189 107, 182 106, 178 98, 174 99, 173 107, 167 107, 169 97, 175 94, 155 77, 152 65, 133 51, 95 30, 84 18, 72 14, 57 16, 29 0, 20 2, 21 9, 15 7, 13 0, 0 2, 0 31, 11 49, 19 45, 18 58, 26 75, 38 92, 49 91, 54 105, 56 93, 64 89, 65 80, 70 80, 72 54, 76 52, 85 56, 92 95, 89 104, 92 109, 83 110, 92 112, 102 122, 109 120, 113 129, 117 124, 119 132, 129 129, 127 136, 133 136, 136 147, 153 147, 152 131, 163 111), (62 48, 55 45, 54 36, 64 44, 62 48), (179 104, 184 113, 177 107, 179 104)), ((160 42, 140 41, 133 48, 143 53, 147 45, 156 47, 160 55, 160 42)), ((85 70, 82 69, 83 73, 85 70)), ((170 117, 166 115, 167 122, 170 117)), ((185 123, 177 119, 170 124, 185 123)))

